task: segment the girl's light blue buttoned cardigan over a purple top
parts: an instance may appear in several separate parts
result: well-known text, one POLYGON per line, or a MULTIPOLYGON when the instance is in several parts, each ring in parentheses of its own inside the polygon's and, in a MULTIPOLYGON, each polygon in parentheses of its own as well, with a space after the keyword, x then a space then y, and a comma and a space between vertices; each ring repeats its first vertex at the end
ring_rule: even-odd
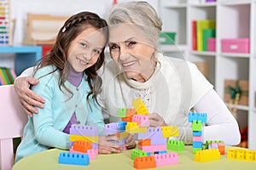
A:
POLYGON ((29 117, 23 139, 16 152, 15 162, 25 156, 49 150, 50 147, 68 150, 69 134, 63 133, 62 130, 74 112, 81 125, 96 125, 99 127, 99 133, 102 132, 102 110, 95 100, 90 98, 89 105, 86 99, 90 91, 87 77, 84 76, 78 88, 70 82, 65 82, 67 88, 72 91, 72 96, 65 88, 61 87, 62 91, 60 90, 60 72, 50 73, 54 69, 55 66, 46 66, 35 75, 40 83, 33 86, 32 91, 45 99, 44 109, 37 108, 38 114, 29 117))

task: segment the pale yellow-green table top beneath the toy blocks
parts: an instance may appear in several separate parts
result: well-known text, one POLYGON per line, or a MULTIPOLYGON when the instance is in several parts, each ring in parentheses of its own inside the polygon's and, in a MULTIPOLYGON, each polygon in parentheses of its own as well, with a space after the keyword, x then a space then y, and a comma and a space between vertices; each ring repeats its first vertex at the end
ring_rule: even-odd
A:
MULTIPOLYGON (((230 148, 230 147, 229 147, 230 148)), ((237 148, 236 148, 237 149, 237 148)), ((59 154, 64 150, 52 149, 39 152, 32 156, 27 156, 15 163, 13 170, 29 170, 29 169, 60 169, 60 170, 79 170, 79 169, 135 169, 131 160, 131 150, 125 150, 119 154, 98 155, 95 160, 90 161, 88 166, 65 165, 58 163, 59 154)), ((65 150, 67 151, 67 150, 65 150)), ((186 146, 185 150, 178 152, 179 163, 177 165, 169 165, 163 167, 155 167, 151 169, 255 169, 256 161, 238 161, 229 160, 227 155, 221 156, 220 160, 196 162, 192 153, 192 146, 186 146)))

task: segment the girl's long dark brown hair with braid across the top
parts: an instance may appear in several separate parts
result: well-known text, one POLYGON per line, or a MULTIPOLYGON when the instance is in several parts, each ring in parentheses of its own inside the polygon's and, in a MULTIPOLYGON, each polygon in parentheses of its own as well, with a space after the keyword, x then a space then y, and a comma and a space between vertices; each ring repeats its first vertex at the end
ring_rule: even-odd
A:
MULTIPOLYGON (((72 42, 79 34, 86 29, 86 26, 93 26, 98 29, 102 29, 102 33, 106 37, 106 44, 108 42, 108 25, 106 20, 100 18, 97 14, 90 12, 81 12, 79 14, 74 14, 70 17, 61 27, 58 35, 56 37, 56 42, 54 47, 51 49, 50 53, 41 59, 38 68, 47 65, 55 65, 55 71, 60 71, 60 77, 58 80, 59 88, 61 86, 67 90, 68 93, 73 93, 65 86, 69 73, 69 64, 67 62, 67 50, 70 47, 70 42, 72 42)), ((101 92, 102 78, 98 76, 97 71, 101 68, 104 63, 105 55, 104 48, 102 48, 102 53, 97 59, 96 64, 90 66, 84 70, 87 75, 87 81, 90 86, 90 92, 87 95, 87 100, 89 100, 90 95, 92 99, 96 99, 97 94, 101 92)), ((52 71, 54 72, 54 71, 52 71)), ((51 72, 51 73, 52 73, 51 72)), ((61 89, 62 91, 62 89, 61 89)), ((97 101, 97 99, 96 99, 97 101)))

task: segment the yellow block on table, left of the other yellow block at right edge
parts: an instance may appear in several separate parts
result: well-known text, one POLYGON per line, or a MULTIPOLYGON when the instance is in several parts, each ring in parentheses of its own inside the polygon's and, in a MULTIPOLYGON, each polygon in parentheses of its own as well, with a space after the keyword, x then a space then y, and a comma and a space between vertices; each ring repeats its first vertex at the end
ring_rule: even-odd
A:
POLYGON ((205 161, 214 161, 220 159, 220 153, 216 149, 212 150, 201 150, 195 152, 195 161, 205 162, 205 161))

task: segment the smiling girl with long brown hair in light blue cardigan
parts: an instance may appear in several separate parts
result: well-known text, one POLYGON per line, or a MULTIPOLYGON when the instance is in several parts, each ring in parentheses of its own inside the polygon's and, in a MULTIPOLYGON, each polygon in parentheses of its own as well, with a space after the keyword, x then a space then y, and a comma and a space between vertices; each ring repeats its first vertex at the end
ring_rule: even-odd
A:
POLYGON ((44 96, 44 109, 29 118, 15 161, 51 147, 68 150, 72 124, 96 125, 101 133, 97 94, 102 80, 96 71, 107 42, 107 23, 97 14, 74 14, 61 27, 54 48, 34 72, 40 83, 32 91, 44 96))

